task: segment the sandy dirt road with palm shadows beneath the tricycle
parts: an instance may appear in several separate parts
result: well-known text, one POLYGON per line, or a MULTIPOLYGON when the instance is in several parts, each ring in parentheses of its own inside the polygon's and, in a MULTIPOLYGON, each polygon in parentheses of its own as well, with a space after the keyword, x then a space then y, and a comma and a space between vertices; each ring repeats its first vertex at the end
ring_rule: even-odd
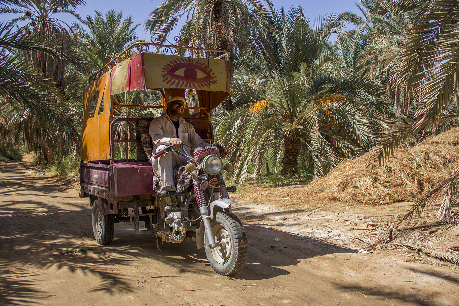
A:
POLYGON ((158 251, 129 224, 98 245, 76 186, 0 162, 0 305, 459 305, 456 266, 412 262, 400 250, 358 253, 351 229, 409 204, 282 208, 288 200, 247 192, 257 190, 232 195, 249 240, 246 266, 224 277, 195 244, 158 251))

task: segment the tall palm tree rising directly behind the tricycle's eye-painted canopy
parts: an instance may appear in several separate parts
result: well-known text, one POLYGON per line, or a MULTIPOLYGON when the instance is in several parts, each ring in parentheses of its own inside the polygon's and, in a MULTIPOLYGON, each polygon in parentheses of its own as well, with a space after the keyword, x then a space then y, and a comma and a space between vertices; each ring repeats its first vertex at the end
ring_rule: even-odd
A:
MULTIPOLYGON (((267 0, 269 3, 269 1, 267 0)), ((250 50, 250 29, 267 26, 269 14, 260 0, 164 0, 152 11, 145 22, 151 36, 159 35, 164 43, 166 36, 186 14, 186 22, 180 30, 179 45, 189 47, 226 50, 229 60, 237 53, 250 50)), ((191 51, 192 55, 203 56, 191 51)), ((218 54, 206 52, 207 57, 218 54)), ((231 100, 222 103, 225 110, 232 110, 231 100)))

